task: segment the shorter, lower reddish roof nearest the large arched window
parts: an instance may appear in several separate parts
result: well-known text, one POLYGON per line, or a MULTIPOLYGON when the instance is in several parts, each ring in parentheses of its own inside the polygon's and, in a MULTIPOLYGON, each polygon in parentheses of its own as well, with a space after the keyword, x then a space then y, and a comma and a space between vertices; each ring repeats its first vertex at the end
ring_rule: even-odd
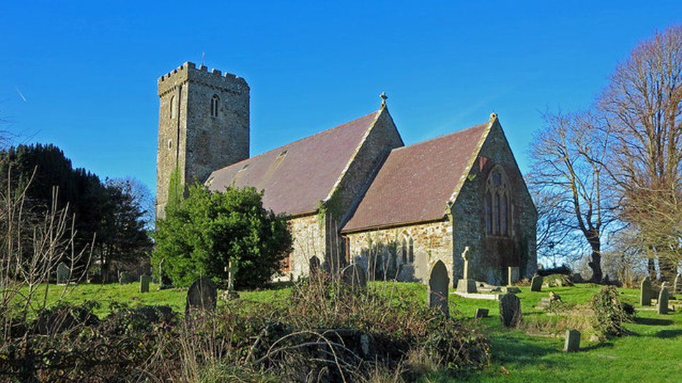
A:
POLYGON ((488 126, 393 149, 343 231, 443 218, 488 126))

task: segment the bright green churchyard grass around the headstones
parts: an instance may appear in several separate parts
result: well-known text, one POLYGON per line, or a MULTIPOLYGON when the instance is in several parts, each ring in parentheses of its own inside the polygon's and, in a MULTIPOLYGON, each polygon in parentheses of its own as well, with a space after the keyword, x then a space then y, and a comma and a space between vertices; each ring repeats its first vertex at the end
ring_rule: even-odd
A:
MULTIPOLYGON (((41 288, 44 288, 41 287, 41 288)), ((370 283, 370 289, 379 294, 389 294, 399 301, 403 297, 414 300, 407 304, 426 305, 426 286, 419 283, 370 283)), ((637 308, 634 322, 626 323, 627 336, 599 341, 590 340, 590 333, 583 333, 581 350, 575 353, 563 352, 563 328, 579 325, 580 315, 568 318, 551 315, 535 306, 549 291, 559 294, 564 302, 586 303, 600 290, 601 286, 577 284, 573 287, 544 288, 542 292, 530 292, 527 286, 517 294, 521 299, 523 324, 521 329, 509 330, 500 324, 497 301, 464 299, 450 294, 451 314, 456 317, 474 317, 477 308, 490 310, 489 316, 478 322, 491 342, 491 366, 485 370, 468 373, 463 378, 473 381, 529 382, 679 382, 682 380, 682 305, 673 313, 659 315, 653 308, 639 306, 639 290, 620 288, 621 301, 637 308), (573 322, 571 322, 573 321, 573 322), (532 334, 532 335, 529 335, 532 334), (644 377, 644 378, 643 378, 644 377)), ((50 299, 57 299, 64 286, 50 285, 50 299)), ((452 290, 451 290, 452 291, 452 290)), ((182 313, 187 290, 159 290, 150 287, 149 293, 139 292, 139 283, 126 285, 78 285, 68 287, 64 301, 84 303, 96 301, 94 313, 103 317, 117 305, 131 307, 145 305, 166 305, 182 313)), ((274 302, 286 299, 291 287, 282 285, 273 290, 239 292, 240 299, 231 304, 249 306, 251 303, 274 302)), ((224 304, 224 303, 219 303, 224 304)), ((425 381, 447 380, 443 376, 429 376, 425 381)))

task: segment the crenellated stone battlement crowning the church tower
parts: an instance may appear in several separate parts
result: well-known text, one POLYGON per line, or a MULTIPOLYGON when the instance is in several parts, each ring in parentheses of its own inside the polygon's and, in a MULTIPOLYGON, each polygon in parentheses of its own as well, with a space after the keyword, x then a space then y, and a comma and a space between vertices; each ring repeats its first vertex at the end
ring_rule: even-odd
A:
POLYGON ((197 67, 195 63, 187 61, 159 77, 157 81, 159 96, 175 89, 177 85, 184 84, 187 80, 202 82, 209 87, 218 87, 229 91, 240 91, 243 87, 249 89, 249 85, 242 77, 232 73, 223 74, 222 70, 215 68, 209 71, 205 65, 197 67))

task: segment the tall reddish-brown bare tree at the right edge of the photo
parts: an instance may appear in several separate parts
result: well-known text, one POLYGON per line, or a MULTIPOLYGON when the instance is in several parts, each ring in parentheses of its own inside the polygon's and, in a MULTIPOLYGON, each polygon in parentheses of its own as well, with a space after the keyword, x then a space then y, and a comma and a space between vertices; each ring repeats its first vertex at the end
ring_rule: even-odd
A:
POLYGON ((605 162, 621 218, 658 258, 664 279, 682 258, 682 26, 655 33, 618 65, 599 100, 613 138, 605 162))

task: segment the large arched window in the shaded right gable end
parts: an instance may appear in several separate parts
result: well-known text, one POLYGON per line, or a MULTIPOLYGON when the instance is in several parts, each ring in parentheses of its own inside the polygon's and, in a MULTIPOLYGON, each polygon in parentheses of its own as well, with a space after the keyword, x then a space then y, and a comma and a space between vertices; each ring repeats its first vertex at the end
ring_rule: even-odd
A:
POLYGON ((486 234, 509 236, 512 234, 512 200, 509 179, 502 167, 491 170, 486 182, 484 220, 486 234))

